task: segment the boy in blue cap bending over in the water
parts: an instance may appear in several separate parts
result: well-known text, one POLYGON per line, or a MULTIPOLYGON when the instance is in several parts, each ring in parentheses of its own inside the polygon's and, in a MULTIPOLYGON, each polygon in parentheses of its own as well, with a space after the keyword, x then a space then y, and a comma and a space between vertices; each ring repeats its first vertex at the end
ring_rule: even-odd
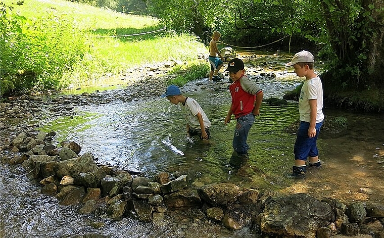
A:
POLYGON ((180 105, 186 120, 187 136, 199 135, 201 139, 209 139, 211 122, 196 100, 182 96, 176 85, 168 86, 166 92, 160 97, 166 97, 172 104, 180 105))

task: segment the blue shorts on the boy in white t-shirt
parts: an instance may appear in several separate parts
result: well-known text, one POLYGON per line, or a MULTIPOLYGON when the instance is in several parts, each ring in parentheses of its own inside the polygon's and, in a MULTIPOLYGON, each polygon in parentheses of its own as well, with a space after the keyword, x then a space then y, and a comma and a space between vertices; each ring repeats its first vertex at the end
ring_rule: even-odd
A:
POLYGON ((319 155, 317 150, 317 136, 320 133, 322 122, 316 123, 316 135, 312 138, 308 136, 309 122, 300 121, 300 127, 297 133, 294 153, 295 160, 306 161, 309 157, 316 157, 319 155))

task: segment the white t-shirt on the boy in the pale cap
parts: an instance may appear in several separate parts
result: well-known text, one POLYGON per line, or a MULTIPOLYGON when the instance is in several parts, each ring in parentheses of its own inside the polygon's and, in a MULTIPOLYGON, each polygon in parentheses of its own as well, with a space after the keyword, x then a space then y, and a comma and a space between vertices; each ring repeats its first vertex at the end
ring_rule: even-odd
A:
POLYGON ((311 108, 309 106, 309 100, 311 99, 317 100, 316 123, 319 123, 324 119, 323 84, 319 77, 305 80, 303 87, 301 88, 299 98, 300 121, 311 122, 311 108))

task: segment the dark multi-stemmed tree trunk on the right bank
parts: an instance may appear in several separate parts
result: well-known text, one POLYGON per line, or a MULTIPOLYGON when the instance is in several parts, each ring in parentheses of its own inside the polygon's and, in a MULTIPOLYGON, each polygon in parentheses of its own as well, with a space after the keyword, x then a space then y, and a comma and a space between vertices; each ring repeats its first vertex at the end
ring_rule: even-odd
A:
POLYGON ((325 77, 342 88, 384 85, 384 2, 322 0, 329 42, 337 56, 325 77))

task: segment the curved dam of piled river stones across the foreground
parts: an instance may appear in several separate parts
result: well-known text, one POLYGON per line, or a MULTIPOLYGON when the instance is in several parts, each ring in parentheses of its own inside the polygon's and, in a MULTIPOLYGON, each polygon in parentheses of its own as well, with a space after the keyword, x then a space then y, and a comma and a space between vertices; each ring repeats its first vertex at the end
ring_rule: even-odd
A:
POLYGON ((23 131, 2 147, 2 163, 22 164, 41 193, 61 205, 81 205, 79 213, 133 216, 143 222, 162 219, 175 209, 197 209, 201 219, 237 230, 250 227, 282 237, 384 237, 384 206, 342 202, 307 194, 268 196, 232 183, 200 184, 193 173, 162 172, 152 178, 98 165, 91 153, 80 155, 75 141, 52 145, 55 132, 23 131))

